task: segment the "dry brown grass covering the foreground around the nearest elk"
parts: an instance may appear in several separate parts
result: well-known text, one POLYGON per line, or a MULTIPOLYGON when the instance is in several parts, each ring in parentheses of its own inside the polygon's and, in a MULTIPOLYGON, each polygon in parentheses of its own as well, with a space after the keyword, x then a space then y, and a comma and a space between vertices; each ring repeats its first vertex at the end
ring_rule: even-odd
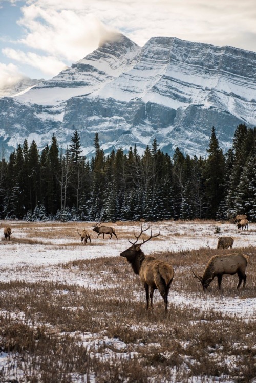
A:
MULTIPOLYGON (((251 260, 247 287, 238 294, 255 298, 256 250, 241 250, 251 260)), ((154 310, 145 310, 140 280, 121 257, 57 266, 70 275, 94 280, 98 288, 53 281, 1 283, 0 347, 9 353, 10 363, 0 379, 1 374, 2 381, 18 378, 22 371, 24 380, 17 381, 188 383, 194 377, 202 382, 252 382, 255 320, 175 301, 176 292, 205 298, 190 268, 201 273, 202 265, 217 253, 228 251, 155 254, 173 264, 176 273, 167 316, 159 298, 154 310), (91 343, 86 346, 87 334, 91 343), (123 342, 122 347, 114 339, 123 342)), ((236 285, 236 276, 223 278, 224 296, 237 296, 236 285)), ((217 282, 212 282, 207 294, 218 299, 217 282)))

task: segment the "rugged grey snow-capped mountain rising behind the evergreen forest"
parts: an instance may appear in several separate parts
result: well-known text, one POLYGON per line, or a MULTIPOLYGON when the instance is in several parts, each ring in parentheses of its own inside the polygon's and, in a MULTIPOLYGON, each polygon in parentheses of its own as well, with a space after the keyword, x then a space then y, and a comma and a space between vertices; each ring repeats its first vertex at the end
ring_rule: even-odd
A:
POLYGON ((105 151, 144 150, 156 137, 170 154, 202 155, 215 126, 226 151, 240 123, 256 126, 255 79, 255 52, 174 37, 139 47, 117 35, 51 80, 0 98, 0 135, 43 147, 55 133, 66 147, 76 128, 84 154, 98 132, 105 151))

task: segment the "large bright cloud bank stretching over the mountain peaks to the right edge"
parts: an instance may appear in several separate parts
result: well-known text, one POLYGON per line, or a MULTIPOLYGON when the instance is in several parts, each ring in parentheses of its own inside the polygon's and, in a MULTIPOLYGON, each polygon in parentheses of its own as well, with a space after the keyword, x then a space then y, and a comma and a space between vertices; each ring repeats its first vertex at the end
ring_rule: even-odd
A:
MULTIPOLYGON (((73 62, 96 49, 109 28, 139 45, 175 36, 243 48, 248 34, 256 37, 253 0, 29 0, 22 10, 22 42, 73 62)), ((250 47, 256 50, 253 39, 250 47)))

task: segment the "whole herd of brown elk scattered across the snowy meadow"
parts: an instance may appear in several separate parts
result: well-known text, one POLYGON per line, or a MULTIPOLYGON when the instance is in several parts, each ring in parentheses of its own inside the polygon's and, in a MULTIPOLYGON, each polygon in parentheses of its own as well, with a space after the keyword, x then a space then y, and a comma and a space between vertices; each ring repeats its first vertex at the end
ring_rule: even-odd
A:
MULTIPOLYGON (((144 223, 144 219, 140 220, 144 223)), ((233 223, 236 223, 238 229, 248 230, 248 220, 246 215, 237 215, 233 219, 233 223)), ((146 229, 142 228, 142 223, 140 226, 139 235, 135 235, 135 242, 131 243, 131 246, 120 253, 120 256, 126 258, 127 262, 131 264, 132 269, 135 274, 139 275, 139 278, 145 288, 146 294, 146 308, 153 308, 153 294, 155 290, 160 292, 164 300, 165 312, 167 312, 168 305, 168 293, 170 289, 170 285, 172 284, 174 278, 174 270, 173 267, 167 262, 156 259, 153 256, 145 255, 141 246, 150 241, 152 238, 156 238, 160 235, 160 232, 156 235, 152 235, 152 230, 150 236, 147 239, 144 239, 143 233, 150 229, 148 226, 146 229), (142 238, 141 238, 142 236, 142 238), (140 242, 138 242, 140 241, 140 242)), ((98 233, 97 238, 100 234, 102 234, 103 239, 105 234, 109 234, 109 239, 114 235, 117 238, 115 233, 115 229, 111 226, 105 226, 101 222, 93 224, 92 231, 98 233)), ((81 233, 77 230, 79 236, 81 237, 81 242, 84 245, 87 244, 87 240, 91 241, 91 234, 86 230, 82 230, 81 233)), ((4 228, 4 239, 9 239, 11 234, 13 233, 12 229, 7 226, 4 228)), ((232 249, 233 246, 233 238, 231 237, 218 237, 217 249, 232 249)), ((205 291, 209 284, 217 277, 218 286, 221 290, 221 281, 224 274, 234 275, 237 274, 239 278, 239 282, 237 288, 240 287, 243 281, 243 287, 245 287, 246 283, 246 266, 249 261, 249 257, 242 253, 232 253, 228 255, 215 255, 210 258, 208 264, 205 267, 203 276, 197 275, 194 271, 191 272, 194 274, 194 277, 198 279, 198 282, 202 284, 203 290, 205 291)))

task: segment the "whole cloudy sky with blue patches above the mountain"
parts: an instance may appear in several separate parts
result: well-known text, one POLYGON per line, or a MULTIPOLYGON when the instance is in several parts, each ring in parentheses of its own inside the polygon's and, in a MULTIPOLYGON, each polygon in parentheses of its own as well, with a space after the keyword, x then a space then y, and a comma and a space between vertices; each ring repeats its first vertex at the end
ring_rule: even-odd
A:
POLYGON ((0 88, 49 79, 120 32, 256 51, 254 0, 0 0, 0 88))

